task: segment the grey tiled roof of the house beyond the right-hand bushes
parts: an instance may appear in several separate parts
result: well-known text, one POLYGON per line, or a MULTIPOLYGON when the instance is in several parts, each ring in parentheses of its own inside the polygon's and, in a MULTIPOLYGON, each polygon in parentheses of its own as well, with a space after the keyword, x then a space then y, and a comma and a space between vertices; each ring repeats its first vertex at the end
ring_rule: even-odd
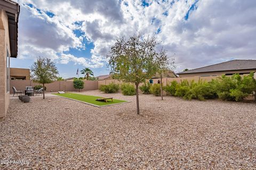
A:
POLYGON ((202 73, 202 72, 218 72, 218 71, 234 71, 234 70, 250 70, 256 69, 256 60, 231 60, 228 62, 213 64, 200 67, 193 70, 183 71, 177 74, 202 73))

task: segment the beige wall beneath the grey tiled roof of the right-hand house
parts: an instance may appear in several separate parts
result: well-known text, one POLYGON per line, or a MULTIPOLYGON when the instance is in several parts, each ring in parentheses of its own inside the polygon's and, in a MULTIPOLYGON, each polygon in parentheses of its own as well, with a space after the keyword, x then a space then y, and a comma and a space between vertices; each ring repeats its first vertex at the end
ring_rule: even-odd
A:
POLYGON ((179 74, 179 78, 187 78, 187 77, 212 77, 212 76, 220 76, 223 74, 235 74, 235 73, 250 73, 250 72, 256 72, 256 69, 254 70, 235 70, 235 71, 219 71, 219 72, 206 72, 206 73, 188 73, 188 74, 179 74))

